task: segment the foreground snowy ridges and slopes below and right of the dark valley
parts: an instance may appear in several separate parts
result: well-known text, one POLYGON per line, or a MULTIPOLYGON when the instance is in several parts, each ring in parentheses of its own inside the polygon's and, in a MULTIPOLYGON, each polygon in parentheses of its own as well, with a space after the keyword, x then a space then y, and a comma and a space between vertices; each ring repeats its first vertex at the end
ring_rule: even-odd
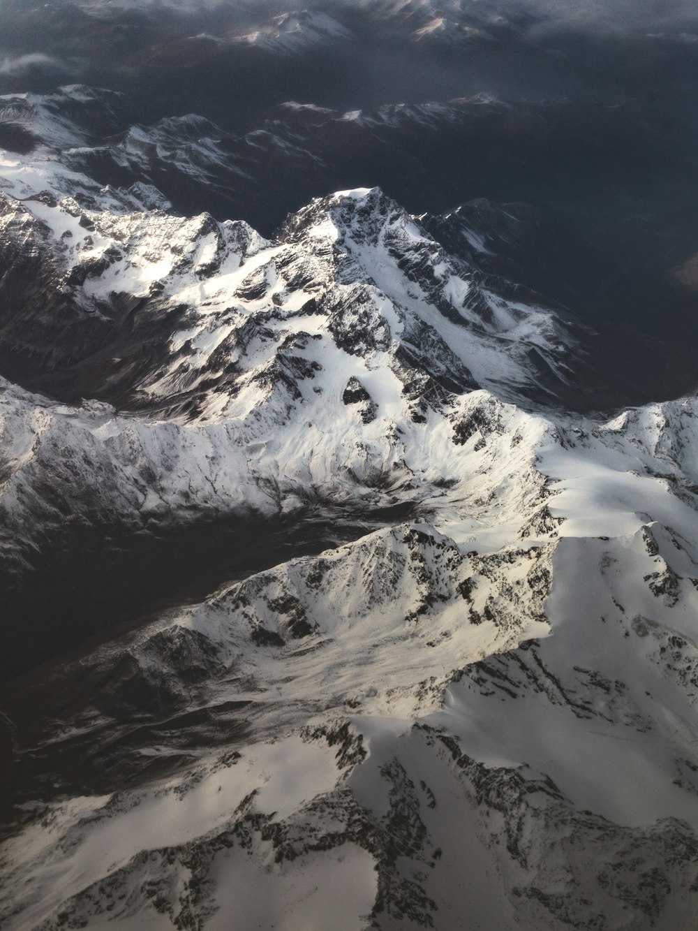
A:
MULTIPOLYGON (((59 670, 73 710, 40 740, 59 761, 89 746, 107 790, 25 807, 10 927, 690 922, 695 403, 606 424, 463 405, 430 522, 59 670)), ((30 749, 31 789, 60 768, 37 774, 30 749)))

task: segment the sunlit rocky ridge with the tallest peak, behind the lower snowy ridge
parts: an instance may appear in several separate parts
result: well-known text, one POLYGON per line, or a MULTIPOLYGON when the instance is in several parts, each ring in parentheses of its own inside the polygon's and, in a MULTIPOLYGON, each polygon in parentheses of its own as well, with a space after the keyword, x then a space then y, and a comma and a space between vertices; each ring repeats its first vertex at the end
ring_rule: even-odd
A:
POLYGON ((552 402, 581 388, 591 331, 451 256, 378 189, 313 202, 275 242, 245 223, 82 199, 2 197, 0 341, 70 365, 86 397, 240 419, 285 387, 315 420, 319 396, 351 377, 374 385, 377 410, 410 393, 423 408, 415 378, 431 379, 436 406, 477 385, 552 402))

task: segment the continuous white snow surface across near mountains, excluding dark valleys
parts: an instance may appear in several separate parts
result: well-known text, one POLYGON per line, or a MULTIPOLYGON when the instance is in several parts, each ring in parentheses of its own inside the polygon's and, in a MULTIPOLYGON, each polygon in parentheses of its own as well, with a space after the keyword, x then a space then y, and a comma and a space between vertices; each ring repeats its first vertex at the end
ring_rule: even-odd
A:
MULTIPOLYGON (((86 318, 128 298, 167 326, 135 388, 151 407, 0 383, 18 571, 66 521, 419 510, 66 667, 128 660, 167 692, 134 757, 168 762, 181 728, 199 742, 174 775, 27 803, 4 926, 692 926, 698 401, 522 403, 544 390, 530 351, 564 384, 573 333, 484 289, 377 189, 314 201, 270 242, 109 193, 87 209, 41 157, 0 167, 4 235, 46 250, 86 318), (172 401, 187 392, 194 412, 172 401), (245 726, 221 746, 178 722, 196 711, 245 726)), ((117 723, 90 707, 43 739, 117 723)))

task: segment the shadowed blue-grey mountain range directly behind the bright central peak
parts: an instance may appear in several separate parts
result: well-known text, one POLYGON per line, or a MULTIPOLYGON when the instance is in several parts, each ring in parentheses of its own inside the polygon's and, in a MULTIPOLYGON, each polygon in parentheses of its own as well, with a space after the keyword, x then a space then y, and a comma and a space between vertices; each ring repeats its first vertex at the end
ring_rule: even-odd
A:
POLYGON ((608 407, 678 395, 698 377, 681 336, 693 292, 677 275, 696 237, 698 211, 684 194, 694 142, 681 140, 667 155, 656 119, 651 106, 635 103, 511 104, 487 96, 367 111, 286 102, 237 134, 192 114, 143 123, 127 97, 71 86, 7 97, 0 132, 13 150, 3 164, 13 196, 49 189, 100 211, 108 186, 113 209, 206 210, 219 221, 243 218, 268 238, 318 193, 369 179, 418 214, 450 254, 592 322, 604 385, 587 380, 599 389, 589 403, 608 407), (608 170, 608 149, 632 161, 643 190, 664 164, 680 205, 666 183, 657 205, 639 215, 636 192, 599 188, 594 179, 608 170))

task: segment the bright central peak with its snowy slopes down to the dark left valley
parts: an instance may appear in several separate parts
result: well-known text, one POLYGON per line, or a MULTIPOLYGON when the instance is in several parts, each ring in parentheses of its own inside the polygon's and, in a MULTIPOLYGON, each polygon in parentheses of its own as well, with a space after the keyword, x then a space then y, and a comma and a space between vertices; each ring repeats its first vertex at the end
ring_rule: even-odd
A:
POLYGON ((582 390, 584 361, 568 359, 584 327, 450 256, 378 189, 314 202, 275 242, 103 196, 113 209, 5 200, 6 364, 59 401, 92 399, 81 411, 7 387, 13 585, 85 527, 418 500, 432 429, 467 439, 463 392, 582 390))

